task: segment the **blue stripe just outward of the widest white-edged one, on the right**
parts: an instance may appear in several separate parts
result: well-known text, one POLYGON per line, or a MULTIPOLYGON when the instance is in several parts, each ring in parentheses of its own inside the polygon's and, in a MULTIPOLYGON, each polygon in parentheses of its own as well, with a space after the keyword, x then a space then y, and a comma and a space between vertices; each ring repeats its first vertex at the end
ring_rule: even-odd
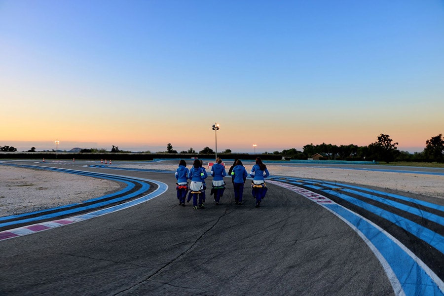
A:
MULTIPOLYGON (((308 187, 314 188, 314 189, 322 189, 319 186, 312 186, 308 185, 308 187)), ((362 200, 356 199, 354 197, 348 196, 346 194, 342 194, 333 190, 326 190, 329 194, 339 197, 343 200, 346 200, 362 209, 365 209, 375 215, 378 215, 381 218, 384 218, 401 228, 405 229, 406 231, 410 232, 414 236, 422 239, 435 249, 439 250, 441 253, 444 253, 444 237, 426 227, 423 227, 415 222, 409 221, 404 217, 401 217, 399 215, 393 214, 391 212, 388 212, 386 210, 383 210, 381 208, 378 208, 376 206, 367 204, 363 202, 362 200)))

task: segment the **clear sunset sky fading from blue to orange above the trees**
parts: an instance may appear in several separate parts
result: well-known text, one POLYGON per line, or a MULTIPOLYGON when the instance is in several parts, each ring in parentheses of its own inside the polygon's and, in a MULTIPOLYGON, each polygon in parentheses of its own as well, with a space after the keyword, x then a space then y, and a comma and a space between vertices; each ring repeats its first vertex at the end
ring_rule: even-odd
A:
POLYGON ((442 0, 0 0, 0 146, 422 151, 442 0))

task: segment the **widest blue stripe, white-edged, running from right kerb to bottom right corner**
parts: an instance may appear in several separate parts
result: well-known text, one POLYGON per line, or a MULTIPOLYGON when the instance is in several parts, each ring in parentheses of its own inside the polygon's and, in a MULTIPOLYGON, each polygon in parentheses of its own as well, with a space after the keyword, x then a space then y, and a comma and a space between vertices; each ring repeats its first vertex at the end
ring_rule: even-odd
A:
POLYGON ((323 206, 350 222, 367 237, 387 260, 406 296, 443 295, 443 291, 441 291, 438 284, 384 231, 340 205, 327 204, 323 206), (408 272, 406 272, 406 268, 409 270, 408 272))

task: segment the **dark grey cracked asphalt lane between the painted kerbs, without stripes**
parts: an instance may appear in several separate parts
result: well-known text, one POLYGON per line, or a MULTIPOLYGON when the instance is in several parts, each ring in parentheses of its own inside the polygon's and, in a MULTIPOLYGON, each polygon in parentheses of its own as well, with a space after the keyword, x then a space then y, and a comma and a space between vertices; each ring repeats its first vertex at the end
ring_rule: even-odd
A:
POLYGON ((129 209, 1 241, 0 295, 395 295, 352 228, 288 189, 268 185, 257 209, 248 186, 235 205, 227 182, 219 206, 207 190, 206 208, 193 210, 179 206, 174 172, 81 164, 169 189, 129 209))

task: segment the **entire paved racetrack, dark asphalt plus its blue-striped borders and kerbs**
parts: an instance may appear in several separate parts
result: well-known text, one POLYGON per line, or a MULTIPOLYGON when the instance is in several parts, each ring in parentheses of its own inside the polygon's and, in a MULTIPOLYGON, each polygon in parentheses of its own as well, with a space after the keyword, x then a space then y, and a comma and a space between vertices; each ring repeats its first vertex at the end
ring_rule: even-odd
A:
POLYGON ((439 198, 272 175, 259 209, 249 181, 238 206, 227 179, 221 205, 207 190, 206 208, 192 210, 177 204, 174 171, 4 164, 123 186, 0 217, 0 295, 444 295, 439 198))

